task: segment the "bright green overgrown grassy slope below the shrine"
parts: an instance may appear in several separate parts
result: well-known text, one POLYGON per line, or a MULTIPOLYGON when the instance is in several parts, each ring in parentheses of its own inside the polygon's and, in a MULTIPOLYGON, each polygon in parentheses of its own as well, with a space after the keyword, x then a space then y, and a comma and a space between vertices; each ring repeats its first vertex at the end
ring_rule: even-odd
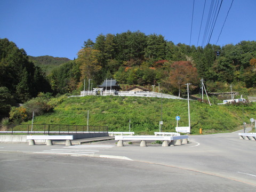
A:
MULTIPOLYGON (((233 131, 242 123, 250 123, 256 116, 256 103, 249 106, 213 105, 190 101, 191 133, 233 131), (244 113, 243 113, 244 111, 244 113), (244 115, 243 115, 244 114, 244 115)), ((35 124, 89 124, 109 126, 109 131, 131 131, 152 134, 159 130, 161 98, 142 97, 73 97, 65 99, 53 113, 37 116, 35 124)), ((180 116, 179 126, 188 126, 187 100, 163 99, 163 131, 173 132, 180 116)), ((28 122, 31 123, 31 122, 28 122)))

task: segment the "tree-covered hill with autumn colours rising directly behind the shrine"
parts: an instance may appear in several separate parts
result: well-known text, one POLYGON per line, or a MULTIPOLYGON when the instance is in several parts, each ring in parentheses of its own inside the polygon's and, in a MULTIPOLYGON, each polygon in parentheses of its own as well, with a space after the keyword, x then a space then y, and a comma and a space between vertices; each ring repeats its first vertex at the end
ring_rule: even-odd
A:
POLYGON ((95 41, 87 39, 78 58, 69 61, 50 75, 52 89, 69 93, 99 85, 114 78, 119 84, 155 86, 164 93, 186 94, 186 83, 192 93, 200 92, 204 79, 210 92, 233 90, 243 95, 255 94, 256 42, 241 41, 233 45, 205 47, 167 41, 162 35, 146 35, 141 31, 100 34, 95 41))

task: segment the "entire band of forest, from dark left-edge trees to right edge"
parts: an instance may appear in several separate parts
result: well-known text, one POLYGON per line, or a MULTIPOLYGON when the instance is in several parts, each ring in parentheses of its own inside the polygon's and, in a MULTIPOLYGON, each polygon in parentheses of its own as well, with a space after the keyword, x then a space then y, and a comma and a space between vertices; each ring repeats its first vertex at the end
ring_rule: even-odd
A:
POLYGON ((187 95, 187 83, 190 95, 202 93, 203 78, 209 92, 229 92, 232 85, 237 97, 256 95, 256 41, 196 47, 175 45, 162 35, 126 31, 100 34, 94 42, 87 39, 77 55, 69 61, 51 56, 29 59, 25 50, 0 38, 0 115, 10 111, 11 101, 3 99, 10 95, 27 102, 40 92, 79 94, 106 78, 122 87, 147 86, 177 96, 187 95))

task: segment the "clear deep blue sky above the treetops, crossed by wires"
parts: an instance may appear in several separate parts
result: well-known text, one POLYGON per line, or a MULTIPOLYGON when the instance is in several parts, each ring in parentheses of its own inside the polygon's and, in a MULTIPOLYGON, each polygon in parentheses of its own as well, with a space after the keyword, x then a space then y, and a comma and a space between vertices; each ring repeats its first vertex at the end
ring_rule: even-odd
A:
MULTIPOLYGON (((87 39, 127 30, 163 35, 174 44, 197 45, 204 2, 195 0, 190 33, 193 0, 0 0, 0 38, 8 38, 31 56, 69 59, 77 57, 87 39)), ((222 2, 211 44, 217 43, 231 2, 222 2)), ((203 45, 210 4, 206 0, 198 46, 203 45)), ((255 41, 255 7, 254 0, 234 0, 217 44, 255 41)))

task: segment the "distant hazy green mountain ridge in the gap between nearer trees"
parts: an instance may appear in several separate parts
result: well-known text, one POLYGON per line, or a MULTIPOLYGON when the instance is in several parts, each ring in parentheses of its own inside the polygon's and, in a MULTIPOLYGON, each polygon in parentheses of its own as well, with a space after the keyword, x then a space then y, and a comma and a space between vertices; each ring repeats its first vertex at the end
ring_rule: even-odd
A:
POLYGON ((32 61, 35 64, 35 66, 41 67, 45 71, 46 75, 49 75, 55 67, 70 61, 68 58, 52 57, 49 55, 38 57, 28 55, 28 58, 29 61, 32 61))

